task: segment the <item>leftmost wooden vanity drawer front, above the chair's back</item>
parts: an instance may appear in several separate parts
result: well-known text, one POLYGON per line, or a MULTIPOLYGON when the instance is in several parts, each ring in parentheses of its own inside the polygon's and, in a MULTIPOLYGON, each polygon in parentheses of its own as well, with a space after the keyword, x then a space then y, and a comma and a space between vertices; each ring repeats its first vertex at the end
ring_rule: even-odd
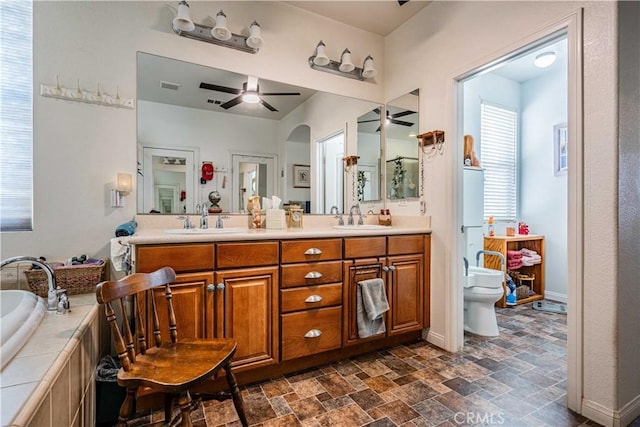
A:
POLYGON ((213 270, 213 244, 208 245, 136 245, 136 272, 150 273, 171 267, 176 273, 213 270))

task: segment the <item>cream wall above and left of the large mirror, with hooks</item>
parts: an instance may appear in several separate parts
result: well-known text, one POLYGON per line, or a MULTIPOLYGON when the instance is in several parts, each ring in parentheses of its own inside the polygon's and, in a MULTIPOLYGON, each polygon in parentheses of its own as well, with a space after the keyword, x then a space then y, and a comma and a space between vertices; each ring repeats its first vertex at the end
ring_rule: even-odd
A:
MULTIPOLYGON (((191 17, 204 22, 220 8, 232 31, 246 31, 257 19, 265 45, 256 55, 184 37, 171 29, 176 3, 34 2, 34 231, 3 233, 2 257, 66 258, 69 254, 108 255, 115 227, 136 212, 136 197, 126 207, 109 207, 116 174, 136 173, 136 110, 43 98, 40 83, 55 82, 124 97, 136 94, 136 52, 176 58, 276 81, 380 103, 384 70, 359 82, 312 70, 307 58, 318 40, 332 58, 344 41, 362 61, 371 54, 384 64, 381 36, 270 1, 191 3, 191 17)), ((281 139, 284 141, 284 139, 281 139)))

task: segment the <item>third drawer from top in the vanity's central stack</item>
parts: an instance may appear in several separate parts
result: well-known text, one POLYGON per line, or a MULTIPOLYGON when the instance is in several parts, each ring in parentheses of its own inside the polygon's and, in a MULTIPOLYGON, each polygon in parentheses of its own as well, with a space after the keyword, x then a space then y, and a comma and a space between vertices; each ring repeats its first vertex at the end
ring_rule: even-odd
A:
POLYGON ((280 311, 308 310, 342 304, 342 283, 304 286, 280 291, 280 311))

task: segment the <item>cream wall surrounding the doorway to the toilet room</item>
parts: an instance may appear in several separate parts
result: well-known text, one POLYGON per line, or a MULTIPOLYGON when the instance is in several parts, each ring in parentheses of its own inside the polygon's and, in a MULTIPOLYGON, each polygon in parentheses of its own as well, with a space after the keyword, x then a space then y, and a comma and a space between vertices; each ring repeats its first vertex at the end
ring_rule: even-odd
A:
POLYGON ((433 229, 430 339, 444 342, 451 326, 445 307, 456 289, 451 275, 461 256, 454 253, 453 243, 459 215, 454 197, 460 196, 454 191, 460 179, 454 162, 462 151, 462 135, 452 139, 452 111, 458 102, 453 99, 454 79, 583 8, 584 271, 578 272, 583 293, 577 299, 583 301, 582 327, 588 331, 581 348, 582 372, 588 374, 579 375, 584 381, 582 402, 602 408, 598 414, 609 420, 618 409, 618 378, 625 375, 616 371, 615 349, 618 253, 616 221, 611 219, 617 214, 617 157, 615 149, 602 149, 602 141, 613 141, 617 129, 616 7, 615 2, 545 2, 544 7, 539 2, 434 2, 385 39, 385 98, 418 85, 421 131, 446 133, 444 155, 425 171, 433 229))

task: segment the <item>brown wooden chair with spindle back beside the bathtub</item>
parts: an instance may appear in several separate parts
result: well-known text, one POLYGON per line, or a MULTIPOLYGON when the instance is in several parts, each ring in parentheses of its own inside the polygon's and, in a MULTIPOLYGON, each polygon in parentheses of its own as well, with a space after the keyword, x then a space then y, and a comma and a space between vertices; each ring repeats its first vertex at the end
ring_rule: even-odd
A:
MULTIPOLYGON (((231 358, 236 351, 233 339, 181 339, 176 326, 175 313, 171 303, 169 284, 176 279, 175 272, 169 267, 153 273, 135 273, 118 281, 106 281, 98 284, 96 297, 98 303, 105 305, 105 314, 111 327, 116 351, 122 364, 118 372, 118 384, 126 387, 127 394, 118 417, 118 424, 124 425, 135 412, 136 391, 139 387, 150 387, 165 394, 165 422, 171 421, 173 402, 179 405, 182 413, 182 426, 191 426, 191 397, 189 390, 212 378, 218 370, 224 369, 233 404, 240 422, 247 426, 242 397, 231 371, 231 358), (144 309, 136 295, 156 287, 164 286, 167 299, 169 342, 162 342, 160 324, 154 298, 148 298, 152 308, 153 335, 155 346, 147 348, 144 325, 144 309), (120 313, 127 313, 125 299, 133 296, 136 317, 137 349, 134 334, 131 332, 127 316, 117 319, 112 302, 120 300, 120 313), (122 330, 119 326, 122 325, 122 330)), ((226 397, 229 397, 228 395, 226 397)))

